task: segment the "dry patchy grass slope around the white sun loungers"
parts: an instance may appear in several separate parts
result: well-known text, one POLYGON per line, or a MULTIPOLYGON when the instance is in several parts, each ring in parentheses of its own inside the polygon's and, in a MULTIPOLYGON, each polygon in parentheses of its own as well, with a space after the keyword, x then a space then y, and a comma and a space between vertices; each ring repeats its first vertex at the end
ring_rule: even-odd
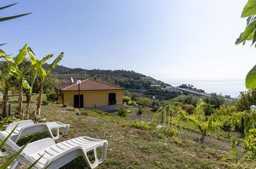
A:
MULTIPOLYGON (((10 97, 11 102, 15 100, 17 96, 10 97)), ((32 100, 34 101, 32 110, 34 110, 35 95, 32 100)), ((14 103, 13 107, 15 107, 14 103)), ((212 147, 206 147, 188 139, 197 134, 192 131, 189 134, 181 133, 177 138, 165 136, 160 139, 152 130, 125 126, 123 123, 129 123, 129 120, 108 113, 87 111, 85 115, 78 116, 76 112, 70 110, 69 107, 63 108, 62 104, 49 103, 42 105, 42 116, 47 121, 70 124, 68 135, 55 140, 56 142, 80 136, 108 140, 107 159, 98 168, 243 168, 245 166, 253 168, 256 166, 255 161, 232 158, 229 149, 216 149, 216 147, 214 149, 214 146, 226 147, 229 143, 219 145, 220 142, 212 138, 212 147)), ((24 144, 32 137, 36 140, 49 135, 35 134, 19 140, 18 144, 24 144)), ((92 155, 89 157, 93 160, 92 155)), ((6 159, 7 157, 1 157, 0 163, 6 159)), ((63 168, 87 168, 87 165, 83 158, 77 158, 63 168)))

